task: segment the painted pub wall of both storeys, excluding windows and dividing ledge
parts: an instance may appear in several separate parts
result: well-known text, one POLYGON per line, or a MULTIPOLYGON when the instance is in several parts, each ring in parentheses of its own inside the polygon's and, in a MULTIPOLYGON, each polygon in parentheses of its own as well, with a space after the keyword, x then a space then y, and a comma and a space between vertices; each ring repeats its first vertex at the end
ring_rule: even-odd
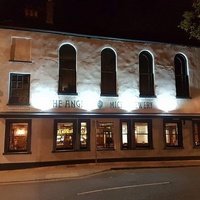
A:
MULTIPOLYGON (((101 100, 104 107, 94 107, 89 112, 96 113, 200 113, 200 48, 172 44, 150 43, 101 39, 95 37, 53 34, 11 29, 0 29, 0 113, 6 112, 84 112, 87 106, 101 100), (31 39, 31 62, 10 61, 11 38, 31 39), (62 44, 72 44, 77 51, 77 96, 58 95, 58 51, 62 44), (105 47, 112 48, 117 55, 118 97, 100 97, 100 55, 105 47), (154 58, 156 98, 139 98, 139 53, 150 51, 154 58), (183 53, 188 60, 191 99, 176 99, 174 78, 174 56, 183 53), (7 105, 9 97, 9 73, 31 74, 31 105, 7 105), (93 99, 95 102, 88 102, 93 99), (130 101, 131 100, 131 101, 130 101), (60 104, 58 103, 60 101, 60 104), (75 108, 70 102, 75 102, 75 108), (121 105, 137 105, 130 110, 121 105), (139 104, 138 104, 139 103, 139 104), (147 104, 150 103, 150 104, 147 104), (54 105, 54 107, 53 107, 54 105), (57 106, 55 106, 57 105, 57 106), (60 106, 58 106, 60 105, 60 106), (67 106, 66 106, 67 105, 67 106), (84 104, 85 105, 85 104, 84 104), (112 105, 112 106, 111 106, 112 105), (151 106, 148 106, 151 105, 151 106), (161 105, 161 106, 158 106, 161 105)), ((96 105, 96 104, 95 104, 96 105)), ((109 119, 115 124, 115 151, 96 152, 95 120, 91 119, 90 151, 52 153, 54 118, 33 118, 31 154, 3 155, 5 140, 5 119, 0 120, 0 163, 44 162, 73 159, 100 159, 125 157, 160 157, 160 156, 200 156, 198 149, 193 149, 192 122, 183 126, 184 148, 164 149, 163 124, 161 118, 153 119, 153 149, 121 150, 119 119, 109 119)))

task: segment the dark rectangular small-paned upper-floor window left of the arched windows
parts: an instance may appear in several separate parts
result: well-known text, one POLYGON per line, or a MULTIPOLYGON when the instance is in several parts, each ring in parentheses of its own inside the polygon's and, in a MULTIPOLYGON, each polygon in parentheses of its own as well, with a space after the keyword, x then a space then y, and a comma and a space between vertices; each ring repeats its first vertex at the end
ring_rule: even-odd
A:
POLYGON ((29 105, 30 74, 10 74, 10 105, 29 105))

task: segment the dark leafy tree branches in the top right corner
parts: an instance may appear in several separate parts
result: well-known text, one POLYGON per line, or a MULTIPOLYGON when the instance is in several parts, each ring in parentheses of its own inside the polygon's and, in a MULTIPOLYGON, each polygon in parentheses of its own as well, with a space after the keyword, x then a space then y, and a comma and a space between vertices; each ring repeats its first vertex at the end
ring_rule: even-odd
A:
POLYGON ((195 0, 190 11, 183 13, 179 27, 189 34, 190 38, 200 40, 200 0, 195 0))

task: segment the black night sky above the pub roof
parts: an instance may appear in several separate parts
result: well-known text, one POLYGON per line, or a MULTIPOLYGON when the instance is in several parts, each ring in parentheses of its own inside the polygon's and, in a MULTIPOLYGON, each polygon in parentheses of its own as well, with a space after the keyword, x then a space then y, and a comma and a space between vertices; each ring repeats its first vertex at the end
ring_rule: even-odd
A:
MULTIPOLYGON (((0 0, 0 22, 5 18, 20 21, 17 17, 12 19, 12 16, 20 13, 24 3, 39 4, 44 1, 0 0)), ((199 41, 190 40, 188 35, 178 28, 183 12, 191 9, 192 0, 54 1, 54 27, 50 29, 200 46, 199 41)), ((41 26, 34 24, 34 28, 41 26)))

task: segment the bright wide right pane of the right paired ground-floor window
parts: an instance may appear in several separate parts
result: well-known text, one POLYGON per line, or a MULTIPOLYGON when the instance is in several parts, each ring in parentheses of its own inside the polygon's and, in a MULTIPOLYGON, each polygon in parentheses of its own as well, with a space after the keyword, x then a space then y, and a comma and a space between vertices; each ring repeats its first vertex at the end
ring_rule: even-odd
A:
POLYGON ((148 144, 148 123, 135 122, 136 144, 148 144))

